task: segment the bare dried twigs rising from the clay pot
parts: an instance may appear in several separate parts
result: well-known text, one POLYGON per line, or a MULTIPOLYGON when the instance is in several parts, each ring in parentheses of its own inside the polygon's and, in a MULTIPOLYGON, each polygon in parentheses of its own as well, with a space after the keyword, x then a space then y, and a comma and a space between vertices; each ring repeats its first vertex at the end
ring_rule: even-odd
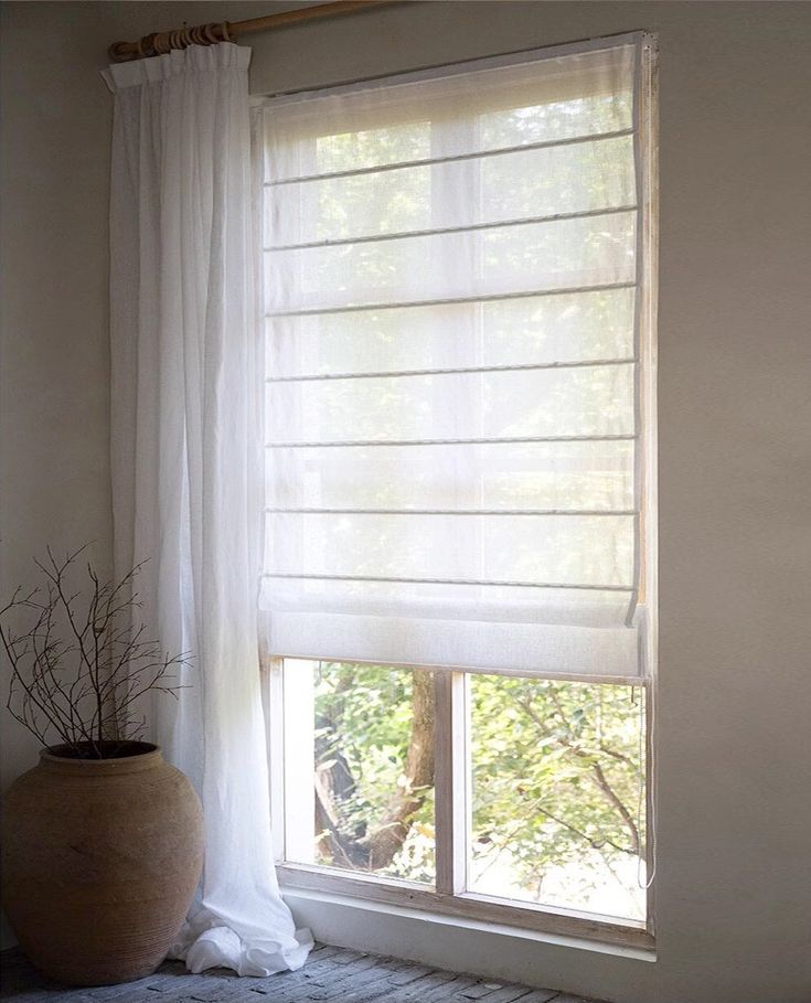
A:
POLYGON ((6 706, 42 745, 55 737, 65 754, 108 759, 138 740, 146 721, 136 716, 146 693, 183 689, 177 673, 189 653, 169 655, 135 626, 142 604, 137 565, 120 581, 102 581, 86 566, 86 595, 73 590, 75 563, 86 547, 35 561, 44 584, 25 594, 18 588, 0 609, 0 639, 11 663, 6 706), (10 621, 25 620, 23 629, 10 621), (19 632, 18 632, 19 630, 19 632))

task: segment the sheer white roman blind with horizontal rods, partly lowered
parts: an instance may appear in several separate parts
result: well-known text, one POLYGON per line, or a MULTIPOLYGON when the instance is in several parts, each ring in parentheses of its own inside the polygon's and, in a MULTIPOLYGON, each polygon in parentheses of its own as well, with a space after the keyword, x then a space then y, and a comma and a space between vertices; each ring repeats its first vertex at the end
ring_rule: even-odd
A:
POLYGON ((643 671, 644 44, 264 106, 274 654, 643 671))

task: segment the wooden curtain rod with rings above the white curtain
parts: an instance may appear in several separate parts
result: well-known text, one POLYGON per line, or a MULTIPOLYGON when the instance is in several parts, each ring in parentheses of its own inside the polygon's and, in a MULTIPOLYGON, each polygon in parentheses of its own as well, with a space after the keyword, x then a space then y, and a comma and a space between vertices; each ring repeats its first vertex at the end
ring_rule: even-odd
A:
POLYGON ((319 3, 314 7, 299 7, 285 10, 266 18, 252 18, 249 21, 214 22, 200 24, 198 28, 181 28, 178 31, 156 31, 137 42, 114 42, 107 50, 111 62, 128 63, 147 56, 162 55, 172 49, 185 49, 188 45, 215 45, 217 42, 232 42, 238 35, 253 31, 271 31, 287 24, 301 21, 313 21, 318 18, 332 18, 337 14, 351 14, 365 7, 380 7, 394 0, 337 0, 334 3, 319 3))

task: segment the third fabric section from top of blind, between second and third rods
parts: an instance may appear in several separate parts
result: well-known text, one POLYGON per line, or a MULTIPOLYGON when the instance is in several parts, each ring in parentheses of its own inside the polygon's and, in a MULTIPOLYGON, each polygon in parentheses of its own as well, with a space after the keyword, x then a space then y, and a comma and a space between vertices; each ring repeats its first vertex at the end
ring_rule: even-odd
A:
POLYGON ((623 209, 485 231, 402 233, 385 242, 269 249, 267 310, 295 313, 630 284, 636 220, 636 210, 623 209))

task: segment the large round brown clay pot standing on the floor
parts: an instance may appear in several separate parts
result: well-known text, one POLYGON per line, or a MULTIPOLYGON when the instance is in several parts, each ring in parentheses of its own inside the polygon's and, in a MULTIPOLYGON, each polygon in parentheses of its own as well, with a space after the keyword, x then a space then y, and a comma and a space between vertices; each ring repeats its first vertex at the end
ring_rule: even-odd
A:
POLYGON ((154 971, 203 865, 189 780, 147 743, 114 759, 45 749, 3 802, 3 907, 30 960, 58 982, 154 971))

